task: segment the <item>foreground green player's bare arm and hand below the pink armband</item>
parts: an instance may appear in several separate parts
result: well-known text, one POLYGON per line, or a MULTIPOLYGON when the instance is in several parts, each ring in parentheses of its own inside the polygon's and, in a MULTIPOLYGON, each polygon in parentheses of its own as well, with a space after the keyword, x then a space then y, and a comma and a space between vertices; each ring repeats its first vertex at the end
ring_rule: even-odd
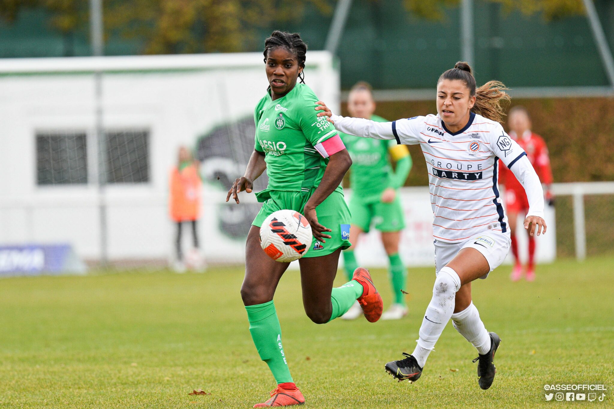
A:
POLYGON ((326 239, 330 239, 330 235, 325 234, 325 232, 330 232, 332 230, 322 226, 322 224, 317 221, 316 207, 324 202, 324 199, 326 199, 329 194, 333 193, 337 186, 341 184, 341 180, 343 180, 343 176, 348 172, 350 166, 352 166, 352 159, 349 157, 347 149, 343 148, 343 150, 330 155, 320 184, 311 197, 309 197, 309 200, 305 204, 305 208, 303 208, 303 215, 309 220, 309 224, 311 224, 313 237, 322 243, 325 243, 326 239))

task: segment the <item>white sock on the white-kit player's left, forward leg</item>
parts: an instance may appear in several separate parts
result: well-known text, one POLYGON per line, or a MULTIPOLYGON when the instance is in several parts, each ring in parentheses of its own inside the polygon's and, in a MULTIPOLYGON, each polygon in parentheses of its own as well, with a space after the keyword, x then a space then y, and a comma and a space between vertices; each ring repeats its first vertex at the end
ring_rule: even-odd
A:
POLYGON ((418 345, 412 353, 421 367, 424 367, 430 351, 435 348, 435 343, 454 312, 456 292, 459 288, 461 288, 461 278, 456 271, 450 267, 439 270, 433 285, 433 298, 426 308, 420 326, 418 345))

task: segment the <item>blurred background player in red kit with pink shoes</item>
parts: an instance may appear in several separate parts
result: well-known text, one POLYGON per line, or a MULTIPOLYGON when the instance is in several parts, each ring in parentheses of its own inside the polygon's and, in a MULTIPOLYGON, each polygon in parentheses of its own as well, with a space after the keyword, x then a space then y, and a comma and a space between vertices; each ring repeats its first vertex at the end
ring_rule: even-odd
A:
MULTIPOLYGON (((552 170, 546 143, 537 134, 531 132, 531 120, 529 113, 524 107, 516 106, 509 113, 509 135, 526 151, 527 158, 533 165, 535 172, 542 183, 546 185, 546 201, 552 202, 550 185, 552 183, 552 170)), ((523 218, 529 209, 527 195, 524 188, 516 177, 505 166, 501 166, 500 182, 505 183, 505 208, 507 210, 511 231, 511 252, 514 256, 514 269, 511 272, 511 280, 518 281, 523 278, 523 266, 518 259, 518 241, 516 240, 516 220, 518 213, 523 213, 523 218)), ((527 281, 535 280, 535 237, 529 235, 529 261, 526 269, 527 281)))

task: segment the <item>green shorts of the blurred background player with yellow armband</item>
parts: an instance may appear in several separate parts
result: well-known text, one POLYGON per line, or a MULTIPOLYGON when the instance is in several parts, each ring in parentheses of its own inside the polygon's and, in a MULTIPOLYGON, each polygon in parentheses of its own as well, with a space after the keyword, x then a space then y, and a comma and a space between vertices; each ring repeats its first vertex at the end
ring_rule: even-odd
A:
POLYGON ((403 207, 398 193, 391 203, 366 202, 352 195, 349 209, 352 213, 352 224, 364 232, 370 230, 371 222, 381 232, 397 232, 405 228, 403 207))

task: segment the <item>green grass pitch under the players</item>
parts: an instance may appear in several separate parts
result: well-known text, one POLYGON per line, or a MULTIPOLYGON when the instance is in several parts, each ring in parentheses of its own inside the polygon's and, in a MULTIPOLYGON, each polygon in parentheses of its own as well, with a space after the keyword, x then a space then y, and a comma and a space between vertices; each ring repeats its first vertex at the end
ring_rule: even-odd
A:
MULTIPOLYGON (((422 378, 397 383, 384 363, 413 351, 432 269, 410 269, 410 316, 311 323, 298 272, 276 294, 290 370, 311 408, 586 407, 614 400, 614 258, 510 267, 475 283, 489 331, 502 338, 497 377, 482 391, 475 349, 448 324, 422 378), (605 401, 545 402, 545 383, 605 383, 605 401)), ((343 283, 342 274, 337 283, 343 283)), ((390 299, 386 272, 373 277, 390 299)), ((241 304, 240 269, 123 272, 0 280, 0 407, 250 408, 274 381, 241 304), (188 396, 192 389, 211 394, 188 396)))

